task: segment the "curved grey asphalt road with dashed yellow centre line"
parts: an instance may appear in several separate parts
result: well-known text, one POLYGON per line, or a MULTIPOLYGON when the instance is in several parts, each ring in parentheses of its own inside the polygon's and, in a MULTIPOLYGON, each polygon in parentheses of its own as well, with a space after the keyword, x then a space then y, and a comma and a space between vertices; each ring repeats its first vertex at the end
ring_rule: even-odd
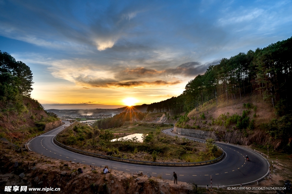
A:
MULTIPOLYGON (((194 166, 194 167, 161 167, 161 166, 148 166, 148 165, 136 165, 129 163, 122 163, 116 161, 109 161, 105 159, 94 158, 92 156, 86 156, 77 154, 62 147, 59 147, 53 142, 53 138, 58 132, 64 129, 64 126, 69 126, 68 121, 64 125, 58 127, 52 131, 49 131, 41 136, 32 139, 28 143, 30 150, 49 156, 52 158, 80 162, 96 167, 108 165, 110 168, 130 173, 143 172, 147 175, 149 172, 152 176, 162 174, 162 178, 171 179, 173 171, 178 175, 178 181, 194 182, 198 185, 210 185, 210 175, 212 175, 213 186, 230 186, 245 184, 248 182, 256 181, 267 176, 269 170, 269 164, 267 160, 260 154, 253 152, 249 149, 245 149, 239 146, 216 143, 225 151, 225 156, 217 163, 194 166), (248 155, 250 161, 246 161, 245 156, 248 155)), ((177 135, 171 133, 171 129, 163 131, 168 135, 177 135)), ((177 135, 180 136, 180 135, 177 135)), ((186 137, 186 136, 181 136, 186 137)), ((200 140, 197 138, 190 138, 193 140, 200 140)))

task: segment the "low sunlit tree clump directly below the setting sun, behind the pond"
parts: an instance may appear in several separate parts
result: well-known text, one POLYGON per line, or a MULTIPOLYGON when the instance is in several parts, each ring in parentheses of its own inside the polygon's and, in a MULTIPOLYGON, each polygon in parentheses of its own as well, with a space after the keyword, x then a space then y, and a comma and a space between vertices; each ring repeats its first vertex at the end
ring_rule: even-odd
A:
POLYGON ((110 129, 115 127, 123 126, 126 121, 138 121, 142 120, 145 117, 145 113, 137 112, 122 112, 113 117, 101 119, 93 123, 93 127, 97 126, 98 129, 110 129))

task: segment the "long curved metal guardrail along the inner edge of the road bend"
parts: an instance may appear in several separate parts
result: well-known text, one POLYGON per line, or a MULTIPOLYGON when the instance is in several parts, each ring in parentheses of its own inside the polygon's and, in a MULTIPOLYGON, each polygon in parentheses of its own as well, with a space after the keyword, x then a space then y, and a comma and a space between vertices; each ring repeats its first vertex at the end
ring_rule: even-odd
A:
MULTIPOLYGON (((218 147, 218 149, 220 149, 222 151, 222 155, 214 160, 209 160, 209 161, 203 161, 203 162, 181 162, 181 163, 168 163, 168 162, 149 162, 149 161, 140 161, 140 160, 132 160, 132 159, 124 159, 124 158, 117 158, 117 157, 112 157, 112 156, 105 156, 105 155, 101 155, 101 154, 95 154, 92 152, 85 152, 83 150, 80 149, 75 149, 72 147, 68 147, 67 145, 64 145, 60 142, 58 142, 56 140, 56 137, 61 133, 62 131, 60 131, 55 137, 54 137, 54 142, 65 148, 68 150, 71 150, 73 152, 79 153, 79 154, 84 154, 84 155, 88 155, 88 156, 94 156, 97 158, 101 158, 101 159, 107 159, 107 160, 113 160, 113 161, 119 161, 119 162, 125 162, 125 163, 132 163, 132 164, 141 164, 141 165, 155 165, 155 166, 197 166, 197 165, 206 165, 206 164, 211 164, 211 163, 215 163, 219 160, 221 160, 224 157, 224 151, 223 149, 221 149, 220 147, 218 147)), ((202 142, 203 143, 203 142, 202 142)))

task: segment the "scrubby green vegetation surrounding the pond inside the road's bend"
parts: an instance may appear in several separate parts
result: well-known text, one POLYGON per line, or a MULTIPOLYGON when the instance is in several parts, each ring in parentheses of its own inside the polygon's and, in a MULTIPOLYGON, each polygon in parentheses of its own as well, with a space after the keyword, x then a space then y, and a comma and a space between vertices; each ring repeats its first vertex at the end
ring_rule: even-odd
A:
POLYGON ((121 128, 99 130, 76 122, 62 131, 57 140, 77 149, 145 161, 183 162, 184 159, 187 162, 199 162, 215 159, 222 154, 217 146, 213 145, 214 140, 210 139, 209 144, 206 144, 207 149, 202 144, 201 150, 198 150, 199 143, 161 133, 161 129, 171 127, 166 124, 132 123, 131 126, 127 124, 121 128), (135 137, 110 141, 114 138, 114 133, 125 136, 125 133, 129 132, 143 133, 143 143, 138 142, 138 138, 135 137))

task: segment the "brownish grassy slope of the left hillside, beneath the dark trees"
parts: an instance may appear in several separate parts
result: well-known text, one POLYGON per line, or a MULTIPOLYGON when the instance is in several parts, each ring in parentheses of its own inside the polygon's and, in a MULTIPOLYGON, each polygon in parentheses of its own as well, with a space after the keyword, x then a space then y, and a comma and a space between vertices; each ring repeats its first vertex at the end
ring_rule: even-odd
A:
POLYGON ((37 100, 18 96, 16 101, 0 102, 0 137, 19 145, 44 132, 47 123, 59 121, 52 113, 44 111, 37 100))

